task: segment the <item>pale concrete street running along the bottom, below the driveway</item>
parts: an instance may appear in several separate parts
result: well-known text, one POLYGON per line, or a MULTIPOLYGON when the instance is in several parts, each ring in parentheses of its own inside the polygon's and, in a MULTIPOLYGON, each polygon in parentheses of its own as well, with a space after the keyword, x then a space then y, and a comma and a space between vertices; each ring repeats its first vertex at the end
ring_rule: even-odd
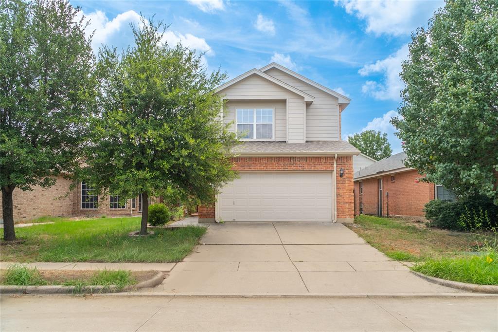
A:
POLYGON ((7 331, 497 331, 498 301, 2 296, 7 331))

